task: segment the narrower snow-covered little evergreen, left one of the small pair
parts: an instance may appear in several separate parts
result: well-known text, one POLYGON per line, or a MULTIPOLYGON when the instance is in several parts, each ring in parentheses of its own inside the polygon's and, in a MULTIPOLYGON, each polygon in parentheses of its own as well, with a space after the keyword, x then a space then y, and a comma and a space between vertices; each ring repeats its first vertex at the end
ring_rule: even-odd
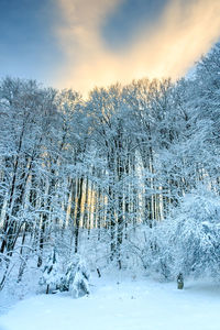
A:
POLYGON ((43 274, 40 278, 40 285, 46 285, 46 294, 48 294, 50 287, 59 287, 61 278, 62 274, 58 270, 57 254, 54 249, 44 265, 43 274))

